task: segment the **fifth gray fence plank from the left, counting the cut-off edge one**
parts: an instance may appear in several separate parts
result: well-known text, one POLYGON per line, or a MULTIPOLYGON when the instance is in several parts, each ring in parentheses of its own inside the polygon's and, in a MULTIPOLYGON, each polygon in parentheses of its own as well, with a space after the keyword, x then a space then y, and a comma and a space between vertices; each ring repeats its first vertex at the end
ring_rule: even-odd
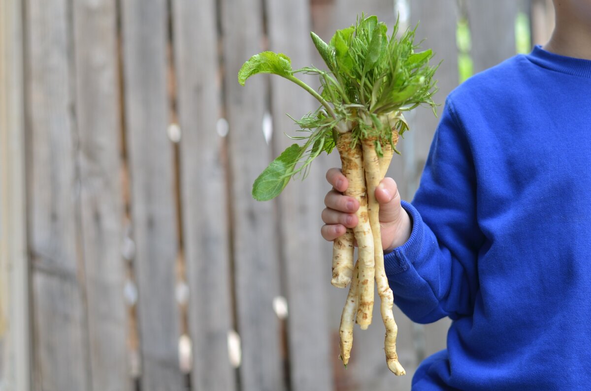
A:
POLYGON ((183 243, 190 287, 193 390, 235 390, 228 359, 232 322, 224 139, 216 132, 220 87, 216 4, 173 2, 178 118, 182 131, 183 243), (207 37, 207 39, 203 39, 207 37))

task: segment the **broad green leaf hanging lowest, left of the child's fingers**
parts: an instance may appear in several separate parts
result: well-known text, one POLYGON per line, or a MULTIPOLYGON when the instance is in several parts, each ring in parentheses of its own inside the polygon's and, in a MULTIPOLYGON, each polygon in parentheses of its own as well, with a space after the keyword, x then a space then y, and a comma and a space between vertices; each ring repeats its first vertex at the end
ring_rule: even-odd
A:
POLYGON ((294 167, 303 152, 303 148, 297 144, 288 146, 256 178, 252 184, 252 197, 257 201, 268 201, 277 197, 290 181, 294 167))

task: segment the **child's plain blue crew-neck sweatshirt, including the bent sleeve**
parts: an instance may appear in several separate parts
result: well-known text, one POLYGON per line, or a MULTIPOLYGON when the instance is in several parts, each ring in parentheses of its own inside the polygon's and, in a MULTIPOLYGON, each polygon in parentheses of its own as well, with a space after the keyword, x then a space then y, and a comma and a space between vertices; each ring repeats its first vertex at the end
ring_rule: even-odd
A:
POLYGON ((413 390, 591 389, 591 61, 540 47, 448 97, 385 256, 411 320, 453 322, 413 390))

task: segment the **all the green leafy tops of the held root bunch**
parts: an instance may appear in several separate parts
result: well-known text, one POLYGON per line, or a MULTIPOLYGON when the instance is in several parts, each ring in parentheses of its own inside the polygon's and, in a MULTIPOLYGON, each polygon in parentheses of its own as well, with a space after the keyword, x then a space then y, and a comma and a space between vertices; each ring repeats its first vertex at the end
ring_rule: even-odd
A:
POLYGON ((419 105, 435 107, 433 94, 437 66, 429 61, 431 50, 417 51, 415 31, 398 32, 398 22, 388 35, 388 27, 375 16, 358 17, 355 24, 337 30, 329 43, 314 32, 310 37, 328 70, 315 67, 292 69, 289 57, 264 51, 246 61, 238 73, 242 85, 258 73, 272 73, 298 84, 314 96, 322 106, 300 120, 301 142, 285 149, 256 178, 252 196, 259 201, 278 196, 294 175, 306 177, 311 162, 322 152, 335 148, 339 131, 350 131, 358 142, 376 137, 376 152, 384 142, 392 144, 394 133, 402 134, 408 124, 403 112, 419 105), (298 74, 319 77, 320 89, 314 89, 298 74))

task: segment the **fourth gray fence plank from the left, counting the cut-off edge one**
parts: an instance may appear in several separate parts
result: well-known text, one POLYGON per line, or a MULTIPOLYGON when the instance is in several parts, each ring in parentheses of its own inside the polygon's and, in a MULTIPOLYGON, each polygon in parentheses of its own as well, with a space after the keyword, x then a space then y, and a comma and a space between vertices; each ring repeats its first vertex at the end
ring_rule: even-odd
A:
POLYGON ((131 175, 142 390, 180 390, 174 298, 178 233, 173 147, 167 138, 165 0, 122 4, 125 127, 131 175))

